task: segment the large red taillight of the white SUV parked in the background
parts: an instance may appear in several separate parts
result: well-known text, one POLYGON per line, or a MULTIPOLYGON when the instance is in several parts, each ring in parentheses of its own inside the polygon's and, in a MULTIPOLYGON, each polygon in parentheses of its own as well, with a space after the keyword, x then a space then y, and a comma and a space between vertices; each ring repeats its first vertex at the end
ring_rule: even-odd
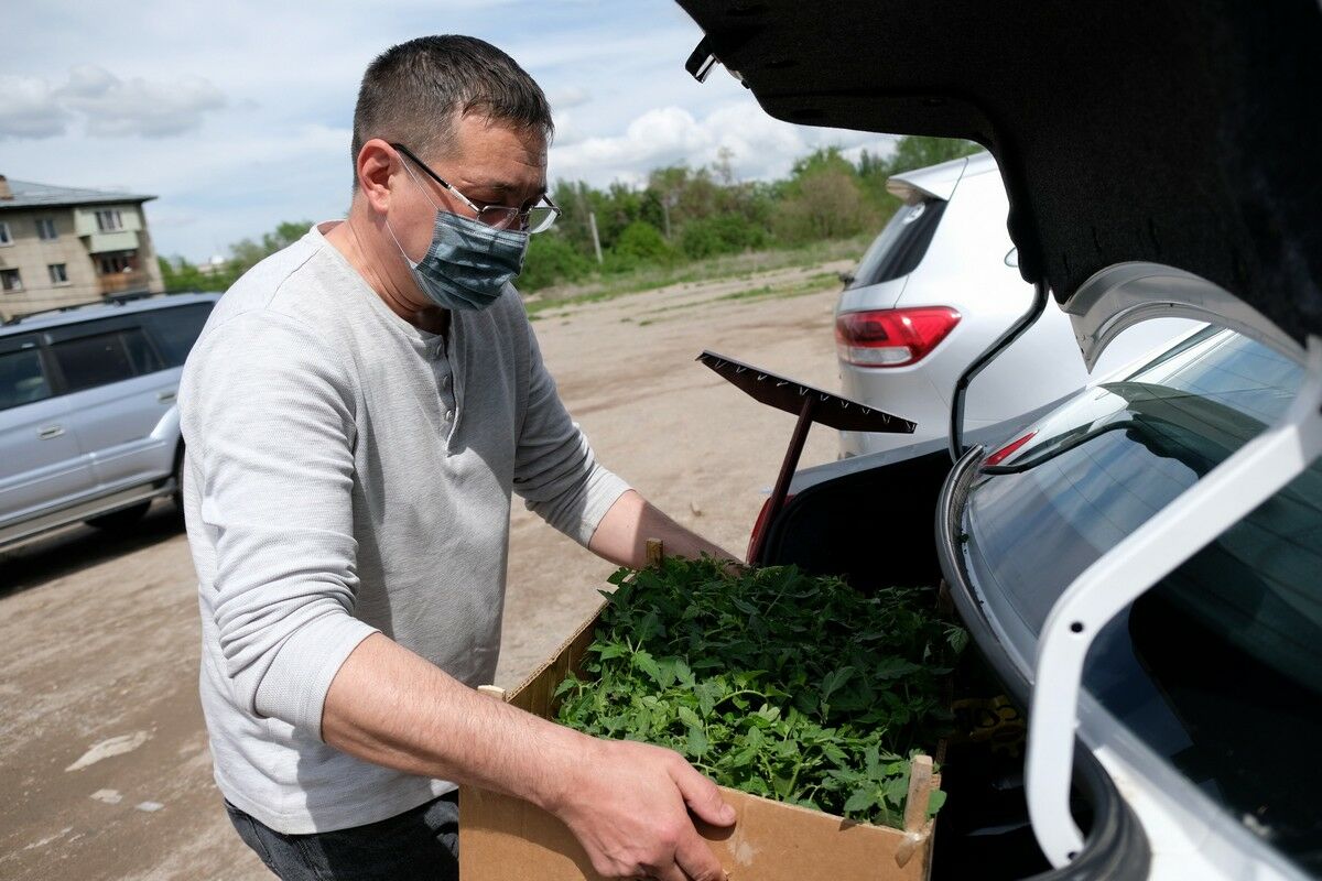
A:
POLYGON ((949 306, 846 312, 836 318, 839 359, 861 367, 904 367, 945 339, 960 313, 949 306))

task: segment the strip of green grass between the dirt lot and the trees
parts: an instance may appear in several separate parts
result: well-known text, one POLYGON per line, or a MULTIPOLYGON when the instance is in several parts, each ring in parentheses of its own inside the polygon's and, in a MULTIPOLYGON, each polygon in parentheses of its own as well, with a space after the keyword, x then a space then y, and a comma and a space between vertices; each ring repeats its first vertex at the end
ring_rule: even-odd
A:
MULTIPOLYGON (((673 267, 640 267, 617 276, 600 276, 584 284, 543 288, 535 293, 534 299, 526 301, 527 313, 530 318, 537 318, 539 317, 538 313, 546 309, 615 300, 616 297, 654 291, 656 288, 665 288, 672 284, 720 279, 751 280, 758 273, 775 269, 813 267, 832 260, 857 260, 867 247, 869 240, 870 236, 858 236, 838 242, 816 242, 801 248, 751 251, 747 254, 710 258, 673 267)), ((833 273, 821 273, 821 276, 829 276, 834 283, 836 276, 833 273)), ((822 287, 824 284, 818 283, 813 291, 820 291, 822 287)), ((804 291, 802 293, 812 293, 812 291, 804 291)), ((739 295, 727 295, 726 299, 760 299, 763 296, 797 295, 739 292, 739 295)))

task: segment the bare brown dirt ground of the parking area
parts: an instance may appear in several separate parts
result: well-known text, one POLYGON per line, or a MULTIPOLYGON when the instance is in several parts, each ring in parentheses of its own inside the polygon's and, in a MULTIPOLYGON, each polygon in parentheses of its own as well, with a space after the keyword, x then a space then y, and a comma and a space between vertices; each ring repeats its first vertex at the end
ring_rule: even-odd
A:
MULTIPOLYGON (((838 284, 826 275, 837 268, 557 306, 534 328, 599 458, 681 523, 743 553, 793 417, 694 358, 711 349, 837 388, 838 284), (743 292, 754 293, 731 296, 743 292)), ((836 449, 817 428, 804 465, 836 449)), ((502 686, 595 608, 612 571, 517 499, 510 535, 502 686)), ((0 555, 0 877, 271 877, 212 783, 200 638, 193 567, 168 502, 132 538, 77 527, 0 555), (97 761, 66 770, 90 752, 97 761)))

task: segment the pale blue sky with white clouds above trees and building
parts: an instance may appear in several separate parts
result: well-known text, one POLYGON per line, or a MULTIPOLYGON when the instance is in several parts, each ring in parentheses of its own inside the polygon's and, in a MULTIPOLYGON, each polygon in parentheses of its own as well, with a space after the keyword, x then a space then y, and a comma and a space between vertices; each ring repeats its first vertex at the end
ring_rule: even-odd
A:
POLYGON ((4 20, 0 174, 156 195, 157 252, 194 263, 344 217, 362 71, 430 33, 488 40, 537 79, 553 182, 637 184, 722 148, 736 177, 767 180, 817 147, 891 145, 773 120, 722 69, 699 85, 683 62, 702 33, 670 0, 41 0, 4 20))

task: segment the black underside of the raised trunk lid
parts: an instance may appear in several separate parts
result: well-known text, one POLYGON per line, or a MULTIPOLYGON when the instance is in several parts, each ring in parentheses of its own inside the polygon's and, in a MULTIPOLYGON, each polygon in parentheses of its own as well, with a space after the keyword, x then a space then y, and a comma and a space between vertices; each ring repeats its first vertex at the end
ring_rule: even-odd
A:
POLYGON ((791 123, 978 141, 1029 281, 1149 262, 1322 335, 1317 0, 677 0, 791 123))

